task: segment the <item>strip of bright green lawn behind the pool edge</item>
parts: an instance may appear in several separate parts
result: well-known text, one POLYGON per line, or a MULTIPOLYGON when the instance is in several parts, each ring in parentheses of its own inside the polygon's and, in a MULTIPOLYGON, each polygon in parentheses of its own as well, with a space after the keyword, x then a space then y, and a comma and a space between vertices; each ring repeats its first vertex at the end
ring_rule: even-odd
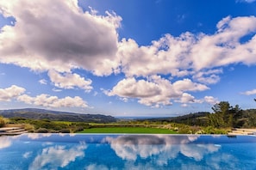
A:
POLYGON ((175 131, 147 128, 147 127, 103 127, 103 128, 91 128, 84 131, 78 131, 78 133, 147 133, 147 134, 177 134, 175 131))

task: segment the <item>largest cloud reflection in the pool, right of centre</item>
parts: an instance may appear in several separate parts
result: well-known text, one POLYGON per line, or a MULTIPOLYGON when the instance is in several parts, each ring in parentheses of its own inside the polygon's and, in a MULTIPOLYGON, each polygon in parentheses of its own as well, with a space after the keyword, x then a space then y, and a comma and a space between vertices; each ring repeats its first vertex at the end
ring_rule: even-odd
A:
POLYGON ((220 146, 214 144, 192 144, 199 136, 121 136, 108 137, 116 155, 123 160, 136 161, 153 156, 158 164, 166 164, 178 154, 201 161, 203 155, 214 153, 220 146))

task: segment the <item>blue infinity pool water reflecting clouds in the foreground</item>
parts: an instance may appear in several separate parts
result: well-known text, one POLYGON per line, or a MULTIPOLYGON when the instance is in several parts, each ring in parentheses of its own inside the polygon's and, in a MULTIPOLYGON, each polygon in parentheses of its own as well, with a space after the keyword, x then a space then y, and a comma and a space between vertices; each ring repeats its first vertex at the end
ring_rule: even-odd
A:
POLYGON ((0 137, 0 169, 256 169, 256 137, 24 134, 0 137))

